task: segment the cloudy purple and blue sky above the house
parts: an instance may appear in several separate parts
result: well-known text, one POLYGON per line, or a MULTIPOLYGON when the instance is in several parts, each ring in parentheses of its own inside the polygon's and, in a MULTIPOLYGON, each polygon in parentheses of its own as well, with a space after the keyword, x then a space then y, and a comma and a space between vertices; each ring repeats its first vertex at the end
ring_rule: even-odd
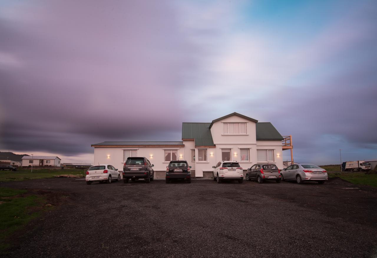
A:
POLYGON ((0 0, 0 150, 92 163, 239 112, 297 162, 375 160, 376 60, 374 0, 0 0))

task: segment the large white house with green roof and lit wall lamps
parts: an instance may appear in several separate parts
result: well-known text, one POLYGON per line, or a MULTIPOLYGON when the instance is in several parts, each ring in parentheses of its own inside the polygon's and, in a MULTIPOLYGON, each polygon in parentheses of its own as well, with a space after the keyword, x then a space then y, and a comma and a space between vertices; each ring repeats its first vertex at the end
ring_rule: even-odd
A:
POLYGON ((246 170, 255 163, 283 168, 283 137, 270 123, 260 123, 236 112, 211 123, 182 123, 182 141, 105 141, 92 144, 94 164, 123 170, 127 157, 146 157, 164 178, 171 160, 187 160, 195 177, 212 176, 220 160, 236 160, 246 170))

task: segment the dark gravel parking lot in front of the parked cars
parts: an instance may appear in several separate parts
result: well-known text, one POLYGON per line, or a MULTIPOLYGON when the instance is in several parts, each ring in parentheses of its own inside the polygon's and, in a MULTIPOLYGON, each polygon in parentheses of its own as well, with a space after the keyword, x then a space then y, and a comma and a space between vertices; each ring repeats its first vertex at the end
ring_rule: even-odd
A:
POLYGON ((376 257, 377 191, 319 185, 155 180, 0 183, 62 203, 14 237, 11 257, 376 257))

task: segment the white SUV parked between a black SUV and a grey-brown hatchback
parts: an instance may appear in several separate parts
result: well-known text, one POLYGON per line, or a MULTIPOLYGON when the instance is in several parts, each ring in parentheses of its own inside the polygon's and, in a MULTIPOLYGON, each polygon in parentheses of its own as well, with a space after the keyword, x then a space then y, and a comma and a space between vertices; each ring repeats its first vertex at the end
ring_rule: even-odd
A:
POLYGON ((213 166, 213 181, 221 183, 224 180, 237 180, 238 183, 244 181, 244 170, 238 161, 219 161, 213 166))

